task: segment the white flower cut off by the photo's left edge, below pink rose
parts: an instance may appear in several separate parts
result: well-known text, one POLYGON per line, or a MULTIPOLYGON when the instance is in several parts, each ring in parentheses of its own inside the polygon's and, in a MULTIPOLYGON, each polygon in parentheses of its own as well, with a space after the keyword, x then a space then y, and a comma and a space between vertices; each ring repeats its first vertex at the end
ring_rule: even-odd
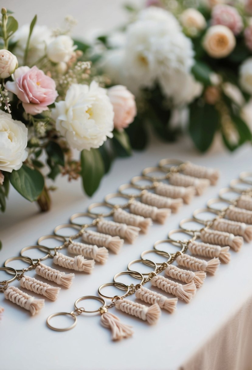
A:
POLYGON ((11 115, 0 111, 0 170, 20 169, 27 158, 27 127, 11 115))

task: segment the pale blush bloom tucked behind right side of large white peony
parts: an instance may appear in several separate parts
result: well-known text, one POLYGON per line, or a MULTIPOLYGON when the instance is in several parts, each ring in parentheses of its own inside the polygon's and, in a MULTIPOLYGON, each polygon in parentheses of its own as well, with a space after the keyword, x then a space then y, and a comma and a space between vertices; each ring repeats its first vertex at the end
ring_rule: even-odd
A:
POLYGON ((114 126, 119 131, 129 126, 136 116, 134 95, 125 86, 116 85, 108 89, 108 96, 113 105, 114 126))

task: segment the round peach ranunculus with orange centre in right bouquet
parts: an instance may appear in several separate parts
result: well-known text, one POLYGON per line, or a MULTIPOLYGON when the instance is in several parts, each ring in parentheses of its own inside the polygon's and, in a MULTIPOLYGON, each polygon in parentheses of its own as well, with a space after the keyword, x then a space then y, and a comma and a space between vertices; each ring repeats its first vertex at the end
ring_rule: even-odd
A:
POLYGON ((232 31, 218 24, 208 28, 203 40, 205 51, 213 58, 225 58, 235 48, 236 40, 232 31))

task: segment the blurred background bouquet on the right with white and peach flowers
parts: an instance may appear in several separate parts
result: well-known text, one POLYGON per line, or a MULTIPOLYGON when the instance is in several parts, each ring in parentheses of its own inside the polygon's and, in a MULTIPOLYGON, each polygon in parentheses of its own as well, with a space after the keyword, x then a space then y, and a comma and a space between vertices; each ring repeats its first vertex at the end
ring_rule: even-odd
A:
POLYGON ((229 150, 252 141, 252 1, 150 0, 130 22, 98 37, 103 73, 136 96, 126 130, 133 148, 149 122, 163 140, 187 131, 202 152, 215 134, 229 150))

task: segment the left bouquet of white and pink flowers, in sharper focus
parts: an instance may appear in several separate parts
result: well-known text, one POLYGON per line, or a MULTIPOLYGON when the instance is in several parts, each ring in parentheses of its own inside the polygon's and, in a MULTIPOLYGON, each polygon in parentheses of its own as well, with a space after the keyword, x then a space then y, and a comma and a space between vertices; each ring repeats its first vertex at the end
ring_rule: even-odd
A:
POLYGON ((70 36, 72 17, 55 30, 36 21, 18 28, 12 13, 1 10, 1 211, 9 182, 47 211, 54 189, 47 178, 81 176, 91 196, 112 160, 131 153, 124 128, 136 115, 134 95, 98 73, 89 45, 70 36))

